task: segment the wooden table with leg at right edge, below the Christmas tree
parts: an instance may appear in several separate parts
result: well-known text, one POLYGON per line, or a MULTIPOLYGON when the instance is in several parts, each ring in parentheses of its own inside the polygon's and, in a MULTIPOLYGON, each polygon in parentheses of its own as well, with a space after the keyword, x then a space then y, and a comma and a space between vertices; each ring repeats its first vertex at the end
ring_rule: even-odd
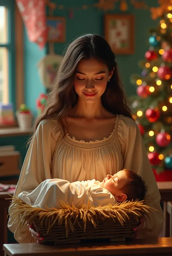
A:
POLYGON ((161 202, 163 202, 164 212, 164 225, 163 225, 163 237, 169 236, 169 214, 167 212, 167 202, 172 201, 172 182, 164 181, 157 182, 159 192, 161 195, 161 202))

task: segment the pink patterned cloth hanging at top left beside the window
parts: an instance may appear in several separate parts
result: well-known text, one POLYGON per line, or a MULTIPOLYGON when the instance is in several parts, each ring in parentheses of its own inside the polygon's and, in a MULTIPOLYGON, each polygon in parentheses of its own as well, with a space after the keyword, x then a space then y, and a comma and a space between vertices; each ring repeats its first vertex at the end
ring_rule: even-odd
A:
POLYGON ((16 0, 28 38, 42 49, 46 42, 46 0, 16 0))

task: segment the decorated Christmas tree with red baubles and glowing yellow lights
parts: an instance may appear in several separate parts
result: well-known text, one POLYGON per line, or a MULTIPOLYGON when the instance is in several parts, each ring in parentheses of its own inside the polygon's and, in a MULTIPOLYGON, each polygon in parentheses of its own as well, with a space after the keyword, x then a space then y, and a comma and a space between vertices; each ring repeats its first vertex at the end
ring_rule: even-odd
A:
POLYGON ((137 86, 133 117, 157 173, 172 169, 172 5, 159 16, 158 27, 150 29, 145 60, 139 62, 142 73, 131 76, 137 86))

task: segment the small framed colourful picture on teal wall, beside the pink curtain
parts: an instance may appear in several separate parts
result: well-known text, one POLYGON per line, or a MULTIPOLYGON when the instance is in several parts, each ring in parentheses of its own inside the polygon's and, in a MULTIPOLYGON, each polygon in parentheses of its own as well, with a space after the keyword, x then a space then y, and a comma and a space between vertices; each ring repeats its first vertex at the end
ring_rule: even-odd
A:
POLYGON ((47 42, 66 41, 66 19, 64 17, 47 17, 48 28, 47 42))

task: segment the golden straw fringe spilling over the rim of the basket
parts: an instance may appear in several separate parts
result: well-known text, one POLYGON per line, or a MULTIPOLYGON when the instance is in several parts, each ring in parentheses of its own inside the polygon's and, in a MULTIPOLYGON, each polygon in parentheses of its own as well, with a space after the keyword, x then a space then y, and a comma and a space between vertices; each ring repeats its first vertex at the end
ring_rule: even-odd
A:
MULTIPOLYGON (((114 222, 118 220, 123 226, 126 220, 130 220, 130 214, 139 222, 139 218, 142 214, 145 215, 147 219, 150 219, 149 213, 153 214, 155 209, 148 206, 148 200, 143 201, 125 201, 122 203, 116 203, 115 205, 108 204, 107 206, 89 206, 83 204, 81 207, 77 208, 74 205, 69 206, 63 201, 59 200, 61 207, 56 209, 51 208, 36 208, 32 207, 29 204, 25 203, 19 198, 15 198, 10 195, 12 202, 10 204, 10 218, 19 223, 19 227, 24 227, 26 222, 33 223, 36 218, 39 218, 40 224, 43 225, 44 220, 46 219, 46 225, 48 230, 58 221, 58 224, 61 225, 62 222, 65 222, 65 227, 73 227, 73 224, 77 222, 80 218, 82 219, 85 228, 87 220, 92 222, 94 227, 96 227, 95 219, 97 216, 100 218, 112 218, 114 222)), ((157 210, 155 210, 157 211, 157 210)))

